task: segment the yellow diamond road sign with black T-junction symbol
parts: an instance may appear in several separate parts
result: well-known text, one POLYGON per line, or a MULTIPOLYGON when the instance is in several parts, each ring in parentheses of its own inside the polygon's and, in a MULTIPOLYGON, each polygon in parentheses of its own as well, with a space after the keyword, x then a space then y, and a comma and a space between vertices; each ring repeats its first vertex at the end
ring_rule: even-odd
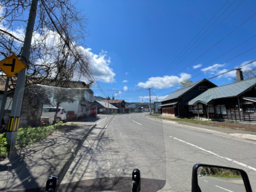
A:
POLYGON ((11 55, 10 57, 0 61, 0 68, 6 76, 11 77, 26 68, 26 65, 22 63, 16 55, 11 55))

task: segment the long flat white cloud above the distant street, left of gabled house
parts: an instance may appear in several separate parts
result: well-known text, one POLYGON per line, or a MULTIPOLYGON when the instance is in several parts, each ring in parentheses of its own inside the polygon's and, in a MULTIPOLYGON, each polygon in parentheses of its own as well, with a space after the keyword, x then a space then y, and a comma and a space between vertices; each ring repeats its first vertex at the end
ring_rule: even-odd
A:
POLYGON ((180 84, 180 82, 184 79, 190 79, 192 76, 187 73, 181 73, 179 76, 164 76, 164 77, 150 77, 148 81, 145 83, 140 82, 137 86, 142 88, 156 88, 156 89, 163 89, 163 88, 170 88, 175 85, 180 84))

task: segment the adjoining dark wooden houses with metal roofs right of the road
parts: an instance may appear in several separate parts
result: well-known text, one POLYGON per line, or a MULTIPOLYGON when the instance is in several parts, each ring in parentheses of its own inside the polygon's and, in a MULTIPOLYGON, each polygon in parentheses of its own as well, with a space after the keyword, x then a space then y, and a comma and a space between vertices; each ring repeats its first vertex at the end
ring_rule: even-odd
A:
POLYGON ((156 102, 156 108, 164 116, 256 122, 256 77, 243 80, 241 72, 231 84, 217 86, 207 79, 189 84, 156 102))

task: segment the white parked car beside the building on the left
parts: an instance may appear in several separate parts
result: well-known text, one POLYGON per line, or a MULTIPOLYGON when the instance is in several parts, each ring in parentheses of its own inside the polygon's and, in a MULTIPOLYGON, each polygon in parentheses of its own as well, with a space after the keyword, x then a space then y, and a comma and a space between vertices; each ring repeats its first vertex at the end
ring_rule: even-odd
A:
MULTIPOLYGON (((46 107, 42 110, 41 121, 49 122, 49 118, 53 118, 56 113, 56 107, 46 107)), ((56 121, 63 121, 67 119, 67 112, 64 108, 58 108, 58 114, 56 117, 56 121)))

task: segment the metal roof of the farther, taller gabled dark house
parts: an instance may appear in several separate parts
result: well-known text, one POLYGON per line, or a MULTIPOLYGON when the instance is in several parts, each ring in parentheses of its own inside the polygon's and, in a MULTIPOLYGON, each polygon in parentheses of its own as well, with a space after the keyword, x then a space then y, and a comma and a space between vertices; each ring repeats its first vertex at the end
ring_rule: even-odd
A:
MULTIPOLYGON (((184 95, 185 93, 187 93, 188 91, 190 91, 191 89, 193 89, 196 85, 198 85, 198 84, 200 84, 204 81, 210 82, 207 79, 202 79, 202 80, 197 81, 195 83, 189 84, 189 85, 187 85, 185 87, 182 87, 182 88, 176 90, 175 92, 171 93, 170 95, 165 97, 163 100, 161 100, 161 102, 167 101, 167 100, 172 100, 172 99, 177 99, 177 98, 181 97, 182 95, 184 95)), ((213 84, 212 82, 210 82, 210 83, 213 84)), ((215 84, 213 84, 213 85, 216 86, 215 84)))

